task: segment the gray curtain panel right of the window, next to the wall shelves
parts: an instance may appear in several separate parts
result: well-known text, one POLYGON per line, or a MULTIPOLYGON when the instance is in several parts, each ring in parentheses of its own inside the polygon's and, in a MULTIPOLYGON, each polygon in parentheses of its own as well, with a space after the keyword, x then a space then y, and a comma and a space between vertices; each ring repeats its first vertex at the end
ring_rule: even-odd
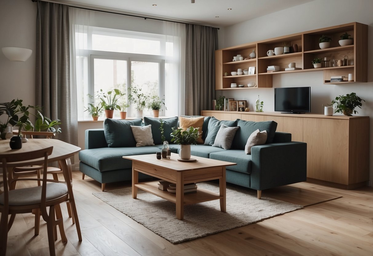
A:
POLYGON ((215 99, 217 28, 187 24, 185 48, 185 115, 200 115, 215 99))

